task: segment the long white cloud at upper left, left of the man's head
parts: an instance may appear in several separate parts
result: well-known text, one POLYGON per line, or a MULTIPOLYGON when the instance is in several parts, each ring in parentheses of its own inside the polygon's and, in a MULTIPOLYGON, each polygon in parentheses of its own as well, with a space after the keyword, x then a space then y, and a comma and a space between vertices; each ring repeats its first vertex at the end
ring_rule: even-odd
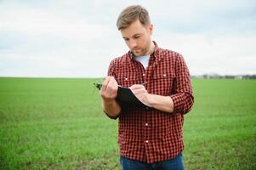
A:
POLYGON ((5 9, 0 15, 0 29, 33 36, 53 36, 70 40, 91 40, 110 33, 108 26, 88 23, 86 18, 63 18, 52 11, 34 8, 5 9))

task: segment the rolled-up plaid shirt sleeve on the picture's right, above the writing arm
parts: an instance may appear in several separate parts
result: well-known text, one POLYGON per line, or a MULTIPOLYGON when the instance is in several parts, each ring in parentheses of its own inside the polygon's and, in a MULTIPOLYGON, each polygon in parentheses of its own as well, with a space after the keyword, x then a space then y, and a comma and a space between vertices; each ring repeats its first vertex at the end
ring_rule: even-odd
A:
POLYGON ((185 60, 178 55, 175 63, 176 93, 171 95, 174 101, 174 114, 185 114, 191 111, 194 103, 194 96, 191 87, 191 77, 185 60))

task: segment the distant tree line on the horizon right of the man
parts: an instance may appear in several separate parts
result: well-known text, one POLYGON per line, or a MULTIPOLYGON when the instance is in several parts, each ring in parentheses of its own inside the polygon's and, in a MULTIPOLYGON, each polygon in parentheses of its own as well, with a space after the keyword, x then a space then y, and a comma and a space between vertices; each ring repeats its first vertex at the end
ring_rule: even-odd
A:
POLYGON ((219 74, 203 74, 200 76, 194 76, 192 75, 191 78, 206 78, 206 79, 211 79, 211 78, 218 78, 218 79, 256 79, 256 75, 219 75, 219 74))

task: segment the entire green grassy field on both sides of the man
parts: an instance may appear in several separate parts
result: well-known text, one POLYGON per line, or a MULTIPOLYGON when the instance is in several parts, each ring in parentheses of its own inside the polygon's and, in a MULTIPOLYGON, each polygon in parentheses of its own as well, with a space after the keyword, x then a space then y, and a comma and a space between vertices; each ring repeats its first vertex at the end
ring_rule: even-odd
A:
MULTIPOLYGON (((95 79, 0 78, 0 169, 119 169, 95 79)), ((193 79, 185 169, 256 169, 256 81, 193 79)))

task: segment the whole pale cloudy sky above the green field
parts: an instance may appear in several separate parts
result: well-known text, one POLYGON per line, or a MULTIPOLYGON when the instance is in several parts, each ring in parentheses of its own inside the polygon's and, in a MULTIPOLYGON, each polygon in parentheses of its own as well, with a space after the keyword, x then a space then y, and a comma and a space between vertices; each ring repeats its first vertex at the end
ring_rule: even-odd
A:
POLYGON ((0 77, 105 77, 129 50, 116 21, 132 4, 191 75, 256 74, 255 0, 0 0, 0 77))

